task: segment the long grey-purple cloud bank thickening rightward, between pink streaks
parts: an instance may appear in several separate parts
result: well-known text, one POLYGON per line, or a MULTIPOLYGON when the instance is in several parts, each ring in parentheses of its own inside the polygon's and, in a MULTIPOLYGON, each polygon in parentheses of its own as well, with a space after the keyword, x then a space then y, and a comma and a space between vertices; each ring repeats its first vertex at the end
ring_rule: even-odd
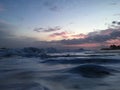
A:
MULTIPOLYGON (((109 31, 109 29, 106 29, 109 31)), ((84 44, 84 43, 104 43, 111 39, 117 39, 120 37, 120 29, 110 29, 109 34, 103 34, 106 30, 91 32, 86 38, 82 39, 71 39, 71 40, 61 40, 63 44, 84 44)))

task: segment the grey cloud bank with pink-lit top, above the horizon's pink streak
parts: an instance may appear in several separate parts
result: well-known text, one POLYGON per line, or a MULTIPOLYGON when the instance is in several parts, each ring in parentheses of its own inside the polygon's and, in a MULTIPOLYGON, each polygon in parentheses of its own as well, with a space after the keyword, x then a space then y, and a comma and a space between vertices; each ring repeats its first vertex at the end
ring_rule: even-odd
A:
MULTIPOLYGON (((115 22, 118 25, 118 22, 115 22)), ((104 45, 107 41, 117 39, 120 37, 120 28, 112 27, 105 30, 99 30, 94 32, 89 32, 88 34, 73 34, 66 31, 59 33, 52 33, 49 35, 50 38, 58 38, 62 40, 56 41, 56 43, 61 43, 62 45, 68 46, 100 46, 104 45), (98 44, 99 43, 99 44, 98 44)))

